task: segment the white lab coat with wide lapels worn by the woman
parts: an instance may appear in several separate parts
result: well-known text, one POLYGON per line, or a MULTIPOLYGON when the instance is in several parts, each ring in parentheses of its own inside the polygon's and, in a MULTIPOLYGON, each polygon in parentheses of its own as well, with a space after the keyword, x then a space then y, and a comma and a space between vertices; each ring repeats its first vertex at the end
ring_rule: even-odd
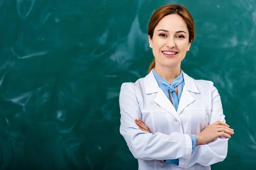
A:
POLYGON ((189 134, 197 134, 216 121, 225 122, 221 99, 211 81, 195 80, 183 72, 184 88, 177 111, 159 88, 152 71, 135 83, 121 86, 120 133, 139 170, 210 170, 227 156, 228 138, 200 144, 192 153, 189 134), (151 133, 139 129, 141 119, 151 133), (179 166, 162 160, 179 159, 179 166))

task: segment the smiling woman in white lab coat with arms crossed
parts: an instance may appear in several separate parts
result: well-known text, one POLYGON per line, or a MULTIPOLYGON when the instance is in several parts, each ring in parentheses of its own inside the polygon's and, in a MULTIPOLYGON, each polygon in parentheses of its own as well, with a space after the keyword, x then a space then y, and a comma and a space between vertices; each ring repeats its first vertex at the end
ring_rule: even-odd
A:
POLYGON ((148 24, 154 55, 148 75, 121 86, 120 133, 140 170, 209 170, 227 156, 234 132, 225 123, 217 89, 180 69, 194 27, 184 6, 157 9, 148 24))

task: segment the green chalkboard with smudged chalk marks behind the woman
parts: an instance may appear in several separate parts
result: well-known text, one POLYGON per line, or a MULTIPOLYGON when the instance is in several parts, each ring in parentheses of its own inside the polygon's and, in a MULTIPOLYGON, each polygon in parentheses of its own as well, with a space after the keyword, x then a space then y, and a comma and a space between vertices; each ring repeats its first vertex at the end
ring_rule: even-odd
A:
POLYGON ((147 74, 168 3, 195 20, 183 71, 215 83, 235 130, 212 170, 255 168, 255 0, 0 0, 0 169, 136 170, 119 91, 147 74))

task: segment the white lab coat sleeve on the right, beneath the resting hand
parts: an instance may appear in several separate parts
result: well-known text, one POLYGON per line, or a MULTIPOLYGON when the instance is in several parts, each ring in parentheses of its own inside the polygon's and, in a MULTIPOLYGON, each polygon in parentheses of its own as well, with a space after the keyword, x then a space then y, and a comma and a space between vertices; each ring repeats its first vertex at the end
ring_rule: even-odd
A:
MULTIPOLYGON (((212 89, 212 113, 209 119, 209 125, 216 122, 226 122, 222 110, 221 98, 218 90, 211 83, 212 89)), ((223 161, 227 156, 228 138, 221 136, 208 144, 199 144, 195 147, 190 159, 179 159, 177 167, 188 168, 194 164, 209 166, 217 162, 223 161)))

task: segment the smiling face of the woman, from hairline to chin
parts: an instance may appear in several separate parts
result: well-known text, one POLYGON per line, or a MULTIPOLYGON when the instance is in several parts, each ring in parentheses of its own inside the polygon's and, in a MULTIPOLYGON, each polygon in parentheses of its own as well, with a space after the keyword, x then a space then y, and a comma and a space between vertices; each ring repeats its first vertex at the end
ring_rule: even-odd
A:
POLYGON ((153 38, 148 36, 156 67, 176 67, 190 47, 189 31, 185 21, 177 14, 163 17, 154 29, 153 38))

